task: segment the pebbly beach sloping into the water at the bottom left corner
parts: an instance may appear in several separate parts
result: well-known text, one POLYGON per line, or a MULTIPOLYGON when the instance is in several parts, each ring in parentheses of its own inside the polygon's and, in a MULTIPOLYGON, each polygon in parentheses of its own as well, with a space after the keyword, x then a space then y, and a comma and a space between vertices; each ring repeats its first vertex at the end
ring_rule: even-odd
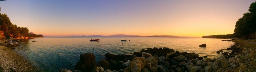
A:
POLYGON ((0 72, 36 72, 38 71, 25 58, 11 48, 0 46, 0 72))

